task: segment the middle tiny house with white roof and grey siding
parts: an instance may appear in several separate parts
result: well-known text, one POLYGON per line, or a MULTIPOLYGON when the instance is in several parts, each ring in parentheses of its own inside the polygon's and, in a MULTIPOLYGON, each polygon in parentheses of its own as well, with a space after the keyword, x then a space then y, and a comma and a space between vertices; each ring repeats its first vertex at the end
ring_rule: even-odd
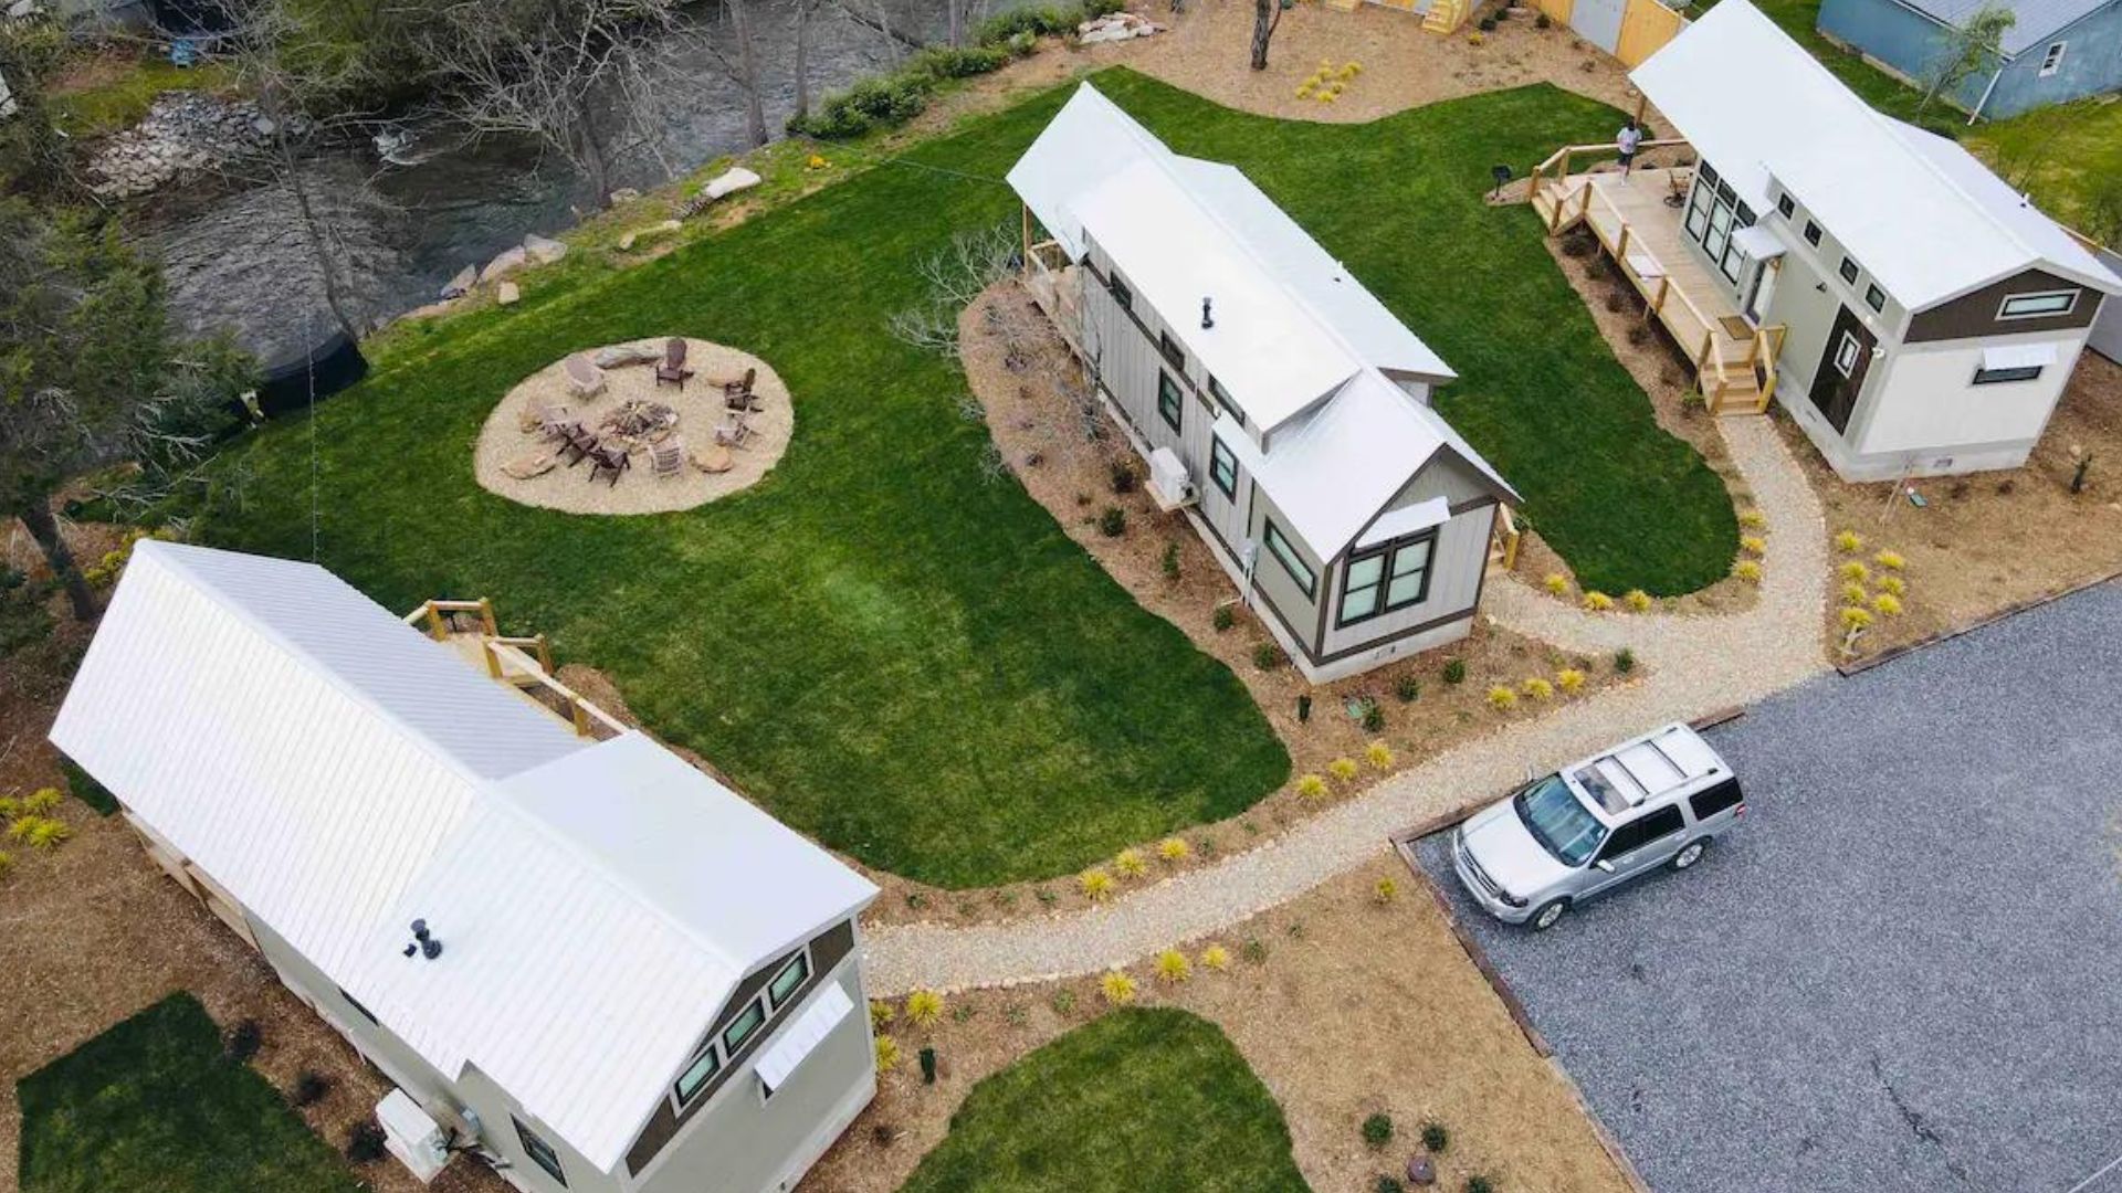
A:
POLYGON ((1430 410, 1437 352, 1241 172, 1091 85, 1010 185, 1033 297, 1307 677, 1471 630, 1517 492, 1430 410))

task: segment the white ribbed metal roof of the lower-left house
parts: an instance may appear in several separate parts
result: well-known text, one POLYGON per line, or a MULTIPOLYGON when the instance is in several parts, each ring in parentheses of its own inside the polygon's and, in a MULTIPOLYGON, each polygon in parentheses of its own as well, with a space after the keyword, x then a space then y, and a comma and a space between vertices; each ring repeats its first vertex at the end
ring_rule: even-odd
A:
POLYGON ((51 741, 422 1059, 607 1172, 736 983, 876 894, 306 563, 134 548, 51 741), (401 955, 412 919, 439 959, 401 955))

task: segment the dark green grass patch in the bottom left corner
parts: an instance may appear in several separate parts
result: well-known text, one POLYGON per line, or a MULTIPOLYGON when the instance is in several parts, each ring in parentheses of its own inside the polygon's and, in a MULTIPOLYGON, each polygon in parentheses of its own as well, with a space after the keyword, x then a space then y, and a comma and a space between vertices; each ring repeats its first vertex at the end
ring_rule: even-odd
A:
POLYGON ((32 1072, 15 1093, 23 1193, 361 1189, 265 1078, 223 1053, 189 993, 32 1072))

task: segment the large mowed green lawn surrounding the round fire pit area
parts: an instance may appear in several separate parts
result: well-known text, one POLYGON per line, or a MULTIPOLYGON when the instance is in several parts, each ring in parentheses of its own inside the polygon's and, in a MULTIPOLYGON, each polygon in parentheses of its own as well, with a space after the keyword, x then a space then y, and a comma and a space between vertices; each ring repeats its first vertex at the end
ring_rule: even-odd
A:
MULTIPOLYGON (((1447 414, 1528 497, 1587 586, 1681 592, 1736 546, 1717 478, 1651 420, 1526 210, 1479 202, 1602 140, 1551 87, 1360 127, 1246 117, 1154 81, 1099 85, 1188 153, 1227 157, 1311 227, 1464 380, 1447 414)), ((1014 225, 1002 174, 1057 89, 668 257, 395 340, 314 425, 318 560, 384 605, 492 596, 511 630, 603 669, 664 739, 796 828, 949 887, 1050 877, 1235 815, 1288 777, 1237 679, 985 480, 955 363, 889 333, 915 265, 1014 225), (643 335, 758 352, 796 395, 764 484, 700 509, 584 518, 471 478, 492 405, 562 357, 643 335)), ((562 263, 562 270, 581 267, 562 263)), ((312 427, 242 452, 223 546, 310 554, 312 427)), ((628 484, 651 484, 634 478, 628 484)), ((1086 514, 1097 509, 1097 499, 1086 514)), ((1144 533, 1144 531, 1131 531, 1144 533)))

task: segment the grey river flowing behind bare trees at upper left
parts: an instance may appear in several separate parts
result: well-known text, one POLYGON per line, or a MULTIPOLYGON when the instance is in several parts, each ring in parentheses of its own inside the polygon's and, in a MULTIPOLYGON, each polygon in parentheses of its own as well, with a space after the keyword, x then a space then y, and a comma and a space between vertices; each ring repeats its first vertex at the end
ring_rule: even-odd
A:
MULTIPOLYGON (((893 30, 942 36, 942 0, 883 6, 893 30)), ((874 0, 864 0, 862 11, 874 13, 874 0)), ((671 170, 747 149, 743 91, 709 49, 730 49, 719 6, 702 6, 688 19, 700 36, 673 40, 660 64, 656 119, 645 121, 651 138, 615 153, 613 187, 656 187, 671 170)), ((796 108, 794 21, 792 0, 753 0, 766 123, 775 136, 796 108)), ((813 102, 887 70, 904 53, 832 2, 821 4, 811 25, 813 102)), ((594 208, 575 172, 520 140, 467 144, 443 129, 414 132, 418 140, 397 155, 410 166, 384 161, 365 142, 327 146, 301 166, 350 306, 365 323, 433 301, 460 267, 492 259, 528 231, 552 236, 594 208)), ((163 195, 144 236, 163 259, 170 306, 191 333, 231 329, 261 359, 274 359, 333 329, 316 255, 284 180, 163 195)))

